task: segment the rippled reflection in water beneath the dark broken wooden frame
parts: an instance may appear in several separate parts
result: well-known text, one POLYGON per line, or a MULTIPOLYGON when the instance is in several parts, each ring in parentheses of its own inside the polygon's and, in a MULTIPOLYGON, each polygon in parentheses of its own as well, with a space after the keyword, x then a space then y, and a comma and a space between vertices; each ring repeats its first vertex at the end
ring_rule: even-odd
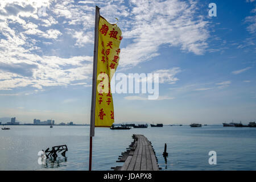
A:
POLYGON ((42 168, 59 168, 65 166, 65 163, 68 161, 66 156, 57 157, 57 158, 47 158, 42 164, 42 168))

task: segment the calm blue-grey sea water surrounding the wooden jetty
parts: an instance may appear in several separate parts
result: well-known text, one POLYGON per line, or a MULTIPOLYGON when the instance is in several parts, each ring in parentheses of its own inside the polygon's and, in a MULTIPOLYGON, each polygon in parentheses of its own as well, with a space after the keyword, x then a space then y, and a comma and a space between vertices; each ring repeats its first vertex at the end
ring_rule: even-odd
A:
MULTIPOLYGON (((0 131, 0 170, 88 170, 89 126, 10 126, 0 131), (66 158, 38 164, 38 152, 67 144, 66 158)), ((222 126, 148 127, 110 130, 97 128, 93 137, 93 170, 111 170, 121 152, 143 134, 152 142, 162 170, 256 170, 256 128, 222 126), (167 143, 168 158, 162 153, 167 143), (209 151, 217 152, 217 165, 209 165, 209 151)))

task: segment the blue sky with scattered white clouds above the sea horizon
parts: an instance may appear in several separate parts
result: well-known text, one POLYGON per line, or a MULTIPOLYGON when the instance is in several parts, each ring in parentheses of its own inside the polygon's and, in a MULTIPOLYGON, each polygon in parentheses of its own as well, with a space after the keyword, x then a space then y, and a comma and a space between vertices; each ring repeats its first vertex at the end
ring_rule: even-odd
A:
POLYGON ((160 76, 159 100, 113 94, 115 122, 256 120, 254 0, 1 1, 0 118, 89 123, 95 5, 119 19, 117 72, 160 76))

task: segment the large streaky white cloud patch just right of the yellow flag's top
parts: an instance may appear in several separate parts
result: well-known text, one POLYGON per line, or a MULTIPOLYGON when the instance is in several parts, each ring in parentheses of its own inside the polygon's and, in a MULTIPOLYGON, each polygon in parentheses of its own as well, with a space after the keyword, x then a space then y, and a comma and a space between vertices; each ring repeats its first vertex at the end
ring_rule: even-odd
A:
POLYGON ((196 55, 204 53, 209 32, 208 22, 196 15, 196 2, 185 1, 131 1, 133 21, 123 20, 124 38, 133 43, 121 51, 121 67, 134 66, 158 56, 162 45, 180 47, 196 55), (134 21, 135 20, 135 21, 134 21), (189 36, 188 36, 189 35, 189 36))

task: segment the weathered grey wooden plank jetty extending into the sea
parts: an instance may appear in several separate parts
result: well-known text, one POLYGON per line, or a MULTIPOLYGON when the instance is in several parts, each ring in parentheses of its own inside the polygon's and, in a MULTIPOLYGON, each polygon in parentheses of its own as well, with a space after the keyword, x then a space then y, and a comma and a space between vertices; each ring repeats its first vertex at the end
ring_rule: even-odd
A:
POLYGON ((159 171, 158 159, 151 142, 144 135, 134 134, 134 141, 119 156, 123 166, 112 167, 114 171, 159 171))

